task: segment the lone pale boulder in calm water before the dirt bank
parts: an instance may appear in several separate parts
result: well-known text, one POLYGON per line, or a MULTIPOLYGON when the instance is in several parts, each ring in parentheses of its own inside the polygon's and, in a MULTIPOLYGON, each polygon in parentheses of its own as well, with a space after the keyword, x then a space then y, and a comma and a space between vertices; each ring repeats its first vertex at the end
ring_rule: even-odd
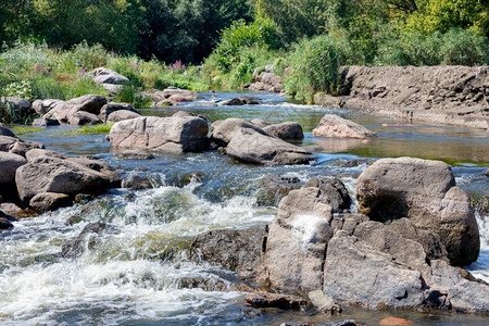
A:
POLYGON ((313 136, 366 139, 376 137, 377 134, 338 115, 325 114, 321 118, 319 125, 313 129, 313 136))

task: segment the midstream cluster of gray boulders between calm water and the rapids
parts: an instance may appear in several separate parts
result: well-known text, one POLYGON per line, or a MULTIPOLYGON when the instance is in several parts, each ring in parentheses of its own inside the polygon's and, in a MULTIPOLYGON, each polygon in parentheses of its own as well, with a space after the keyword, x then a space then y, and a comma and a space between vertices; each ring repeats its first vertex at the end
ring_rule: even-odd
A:
POLYGON ((303 139, 298 123, 269 125, 264 121, 242 118, 216 121, 188 112, 170 117, 143 116, 114 124, 109 135, 115 149, 140 149, 162 152, 200 152, 211 146, 240 162, 252 164, 304 164, 312 154, 286 140, 303 139), (212 145, 214 143, 214 145, 212 145))

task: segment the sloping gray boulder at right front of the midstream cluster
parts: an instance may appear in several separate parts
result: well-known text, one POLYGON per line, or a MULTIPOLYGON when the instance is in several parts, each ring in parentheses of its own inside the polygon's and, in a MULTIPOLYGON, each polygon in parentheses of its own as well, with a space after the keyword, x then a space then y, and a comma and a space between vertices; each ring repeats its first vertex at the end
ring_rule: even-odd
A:
POLYGON ((311 152, 251 128, 239 128, 226 153, 240 162, 262 165, 309 164, 311 152))

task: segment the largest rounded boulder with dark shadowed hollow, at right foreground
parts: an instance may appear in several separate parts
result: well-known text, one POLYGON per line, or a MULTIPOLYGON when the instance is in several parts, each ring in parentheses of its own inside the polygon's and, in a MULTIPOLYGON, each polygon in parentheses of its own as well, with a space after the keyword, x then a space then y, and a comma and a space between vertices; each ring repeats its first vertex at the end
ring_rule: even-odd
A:
POLYGON ((477 260, 479 230, 468 196, 455 187, 450 166, 412 158, 383 159, 356 183, 359 211, 374 221, 408 217, 418 229, 438 234, 450 262, 477 260))

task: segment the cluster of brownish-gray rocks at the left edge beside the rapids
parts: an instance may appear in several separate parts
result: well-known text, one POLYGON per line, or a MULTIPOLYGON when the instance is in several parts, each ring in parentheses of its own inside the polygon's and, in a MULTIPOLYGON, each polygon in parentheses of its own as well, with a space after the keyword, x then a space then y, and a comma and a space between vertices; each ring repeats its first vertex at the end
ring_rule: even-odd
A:
POLYGON ((18 139, 5 127, 0 127, 0 195, 18 210, 46 212, 70 204, 80 193, 101 193, 121 185, 120 175, 104 162, 68 158, 18 139))

